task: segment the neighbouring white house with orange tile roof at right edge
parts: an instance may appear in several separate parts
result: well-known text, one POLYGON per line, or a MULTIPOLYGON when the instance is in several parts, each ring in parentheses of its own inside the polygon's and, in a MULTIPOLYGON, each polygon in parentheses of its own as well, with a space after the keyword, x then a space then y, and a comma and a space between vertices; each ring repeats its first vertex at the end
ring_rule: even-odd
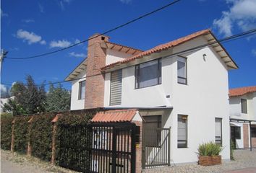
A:
POLYGON ((236 148, 249 148, 252 134, 252 147, 256 147, 256 86, 229 89, 229 107, 231 141, 236 148))

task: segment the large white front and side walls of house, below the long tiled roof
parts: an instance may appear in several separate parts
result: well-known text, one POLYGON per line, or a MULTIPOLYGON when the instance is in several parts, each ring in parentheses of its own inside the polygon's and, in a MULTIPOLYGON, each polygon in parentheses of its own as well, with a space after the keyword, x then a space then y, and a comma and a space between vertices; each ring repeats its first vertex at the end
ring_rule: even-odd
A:
MULTIPOLYGON (((207 43, 203 37, 174 48, 174 53, 207 43)), ((187 85, 177 83, 177 56, 162 59, 162 84, 135 89, 135 66, 123 69, 121 105, 114 107, 172 106, 163 114, 163 127, 171 126, 171 162, 197 161, 200 143, 215 141, 215 118, 222 118, 223 159, 229 159, 229 84, 226 65, 212 48, 187 56, 187 85), (203 54, 206 55, 205 59, 203 54), (166 96, 170 98, 166 98, 166 96), (177 115, 188 115, 188 146, 177 148, 177 115)), ((109 106, 110 73, 106 74, 104 105, 109 106)))

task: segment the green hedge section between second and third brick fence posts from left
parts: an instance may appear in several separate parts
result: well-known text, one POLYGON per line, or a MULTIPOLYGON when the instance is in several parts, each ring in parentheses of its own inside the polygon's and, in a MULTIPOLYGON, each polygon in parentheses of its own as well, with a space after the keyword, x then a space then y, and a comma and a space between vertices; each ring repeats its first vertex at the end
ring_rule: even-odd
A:
POLYGON ((51 160, 52 123, 56 114, 34 115, 31 122, 30 143, 32 156, 51 160))

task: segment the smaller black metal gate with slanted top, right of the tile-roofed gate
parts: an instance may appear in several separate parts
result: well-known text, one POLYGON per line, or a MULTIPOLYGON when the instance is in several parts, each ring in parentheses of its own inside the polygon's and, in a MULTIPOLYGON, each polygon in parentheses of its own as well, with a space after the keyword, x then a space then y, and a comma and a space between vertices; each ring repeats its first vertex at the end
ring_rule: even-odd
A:
POLYGON ((171 128, 142 128, 142 169, 171 166, 171 128))

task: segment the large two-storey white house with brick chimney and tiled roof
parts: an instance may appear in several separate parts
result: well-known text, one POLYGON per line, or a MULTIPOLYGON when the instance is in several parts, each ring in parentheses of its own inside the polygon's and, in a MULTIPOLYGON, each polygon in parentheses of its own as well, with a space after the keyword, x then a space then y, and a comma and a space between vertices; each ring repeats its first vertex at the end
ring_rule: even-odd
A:
POLYGON ((209 141, 230 159, 228 71, 238 67, 210 30, 146 51, 95 36, 88 58, 65 79, 72 81, 72 110, 137 108, 145 120, 142 138, 157 154, 167 152, 161 133, 145 129, 171 128, 171 163, 197 161, 198 146, 209 141))

